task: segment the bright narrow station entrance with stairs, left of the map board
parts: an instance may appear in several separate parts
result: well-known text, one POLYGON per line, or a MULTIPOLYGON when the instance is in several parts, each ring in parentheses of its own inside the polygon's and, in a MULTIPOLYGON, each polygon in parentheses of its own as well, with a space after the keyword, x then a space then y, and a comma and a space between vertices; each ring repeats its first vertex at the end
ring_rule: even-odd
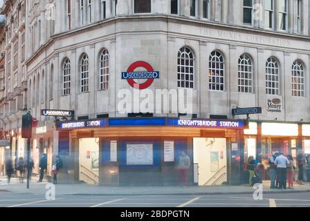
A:
POLYGON ((79 140, 80 180, 87 184, 99 184, 99 138, 79 140))

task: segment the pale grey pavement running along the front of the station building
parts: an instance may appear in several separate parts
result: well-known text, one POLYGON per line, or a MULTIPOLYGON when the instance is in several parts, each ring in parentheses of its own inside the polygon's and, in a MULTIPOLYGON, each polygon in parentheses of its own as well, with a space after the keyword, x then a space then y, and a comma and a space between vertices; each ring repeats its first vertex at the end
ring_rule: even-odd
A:
MULTIPOLYGON (((30 182, 30 189, 26 189, 26 180, 20 184, 17 178, 12 178, 7 184, 0 177, 0 192, 10 193, 33 193, 45 194, 48 182, 38 183, 34 179, 30 182)), ((269 189, 268 182, 264 182, 264 193, 307 193, 310 192, 310 184, 295 184, 294 189, 269 189)), ((255 189, 247 185, 240 186, 93 186, 89 184, 57 184, 55 185, 57 195, 213 195, 213 194, 253 194, 255 189)))

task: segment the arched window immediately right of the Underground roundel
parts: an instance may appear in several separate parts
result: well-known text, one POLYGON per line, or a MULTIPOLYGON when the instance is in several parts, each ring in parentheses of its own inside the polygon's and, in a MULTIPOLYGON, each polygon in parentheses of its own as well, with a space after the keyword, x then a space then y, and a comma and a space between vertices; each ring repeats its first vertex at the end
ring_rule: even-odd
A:
POLYGON ((179 50, 178 87, 194 88, 194 55, 188 47, 179 50))

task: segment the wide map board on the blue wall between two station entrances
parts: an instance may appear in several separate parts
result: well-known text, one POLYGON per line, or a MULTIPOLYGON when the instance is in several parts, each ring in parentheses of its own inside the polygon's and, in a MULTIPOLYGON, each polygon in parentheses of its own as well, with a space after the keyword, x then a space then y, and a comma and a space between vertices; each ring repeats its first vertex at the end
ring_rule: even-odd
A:
POLYGON ((153 144, 127 144, 127 165, 153 165, 153 144))

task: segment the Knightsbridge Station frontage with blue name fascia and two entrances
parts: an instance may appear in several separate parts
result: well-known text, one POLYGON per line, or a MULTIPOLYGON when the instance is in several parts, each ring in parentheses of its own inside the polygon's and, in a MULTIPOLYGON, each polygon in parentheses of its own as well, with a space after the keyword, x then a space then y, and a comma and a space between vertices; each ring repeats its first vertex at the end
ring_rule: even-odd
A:
POLYGON ((190 157, 190 185, 239 184, 243 129, 241 121, 164 117, 89 119, 59 127, 70 134, 75 180, 113 186, 180 184, 182 151, 190 157))

